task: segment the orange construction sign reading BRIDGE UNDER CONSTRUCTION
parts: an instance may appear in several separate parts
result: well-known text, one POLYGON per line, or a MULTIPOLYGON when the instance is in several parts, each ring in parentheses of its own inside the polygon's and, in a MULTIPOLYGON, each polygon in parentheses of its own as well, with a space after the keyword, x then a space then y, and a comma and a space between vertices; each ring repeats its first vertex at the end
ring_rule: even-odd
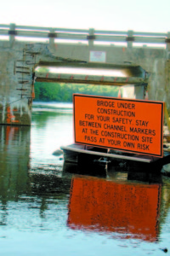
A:
POLYGON ((164 102, 73 95, 75 143, 163 156, 164 102))

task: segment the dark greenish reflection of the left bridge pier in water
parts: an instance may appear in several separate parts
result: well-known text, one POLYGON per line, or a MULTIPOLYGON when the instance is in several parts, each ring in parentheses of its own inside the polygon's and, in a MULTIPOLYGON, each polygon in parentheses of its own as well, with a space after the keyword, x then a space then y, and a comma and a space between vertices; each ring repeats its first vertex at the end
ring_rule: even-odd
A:
POLYGON ((0 126, 0 196, 3 205, 27 192, 31 127, 0 126))

